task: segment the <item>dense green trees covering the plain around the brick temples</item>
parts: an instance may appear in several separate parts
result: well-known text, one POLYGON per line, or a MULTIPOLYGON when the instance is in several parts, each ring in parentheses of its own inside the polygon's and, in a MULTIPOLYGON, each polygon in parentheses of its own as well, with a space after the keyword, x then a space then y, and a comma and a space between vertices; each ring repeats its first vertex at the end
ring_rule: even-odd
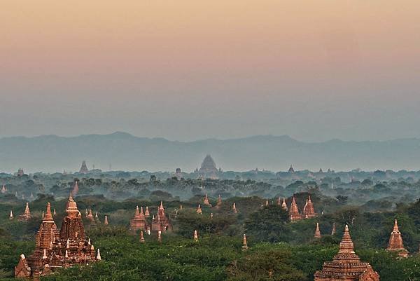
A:
MULTIPOLYGON (((29 180, 34 180, 34 184, 27 184, 25 188, 39 186, 35 182, 38 179, 22 182, 29 180)), ((417 254, 420 245, 420 201, 410 203, 413 200, 411 198, 410 201, 395 204, 388 200, 392 197, 391 193, 400 189, 400 185, 363 181, 359 184, 346 184, 345 188, 342 185, 340 190, 330 189, 328 185, 317 184, 315 181, 294 181, 284 188, 274 188, 270 184, 259 184, 256 181, 206 180, 200 181, 204 184, 200 192, 182 201, 183 209, 180 210, 181 201, 173 193, 182 193, 183 189, 179 189, 179 185, 188 182, 195 183, 190 184, 191 189, 197 188, 195 185, 199 181, 168 179, 167 183, 172 183, 171 191, 167 187, 162 188, 167 184, 161 186, 162 182, 153 179, 140 184, 146 186, 139 189, 145 194, 145 189, 151 191, 151 186, 159 186, 148 196, 111 200, 103 194, 87 192, 90 189, 102 189, 99 186, 103 186, 104 181, 99 184, 97 179, 80 179, 80 192, 76 201, 84 217, 87 235, 94 246, 101 249, 103 260, 83 268, 61 270, 42 279, 310 281, 313 280, 314 271, 320 269, 322 263, 332 259, 337 252, 345 224, 349 224, 356 252, 364 261, 372 264, 381 275, 381 280, 409 281, 420 278, 420 256, 417 254), (89 189, 85 186, 87 182, 91 184, 89 189), (223 191, 226 184, 232 184, 239 191, 247 188, 255 190, 255 186, 259 186, 258 189, 278 189, 278 194, 271 197, 230 194, 230 197, 223 197, 219 208, 203 204, 204 194, 216 191, 209 193, 211 205, 216 206, 216 194, 223 191), (279 194, 286 194, 286 191, 295 193, 300 210, 311 196, 318 217, 291 223, 288 212, 276 205, 279 194), (368 200, 364 205, 353 205, 351 202, 356 200, 359 193, 364 192, 384 192, 391 197, 368 200), (141 244, 138 234, 130 235, 127 231, 135 207, 148 206, 151 214, 155 214, 160 200, 164 200, 174 231, 162 235, 161 243, 154 234, 146 235, 146 244, 141 244), (266 200, 268 206, 265 206, 266 200), (199 203, 203 214, 195 212, 199 203), (238 213, 232 211, 233 203, 238 213), (98 213, 99 219, 95 223, 85 219, 84 212, 87 209, 98 213), (105 215, 109 218, 109 226, 102 224, 105 215), (408 259, 399 259, 384 250, 394 219, 398 219, 405 247, 410 252, 408 259), (314 239, 317 222, 323 235, 320 240, 314 239), (337 233, 330 235, 333 223, 337 226, 337 233), (193 240, 194 230, 199 233, 198 242, 193 240), (247 251, 241 249, 244 233, 248 238, 247 251)), ((136 186, 139 182, 130 181, 130 184, 136 186)), ((57 226, 61 225, 66 205, 64 194, 67 196, 71 191, 72 181, 65 185, 63 196, 57 196, 57 193, 36 193, 36 198, 29 204, 33 218, 27 222, 16 219, 25 208, 25 200, 16 198, 10 192, 13 186, 18 189, 23 187, 19 184, 6 186, 8 192, 0 195, 0 277, 3 280, 13 276, 13 266, 18 262, 19 255, 28 255, 34 248, 34 236, 47 202, 57 211, 54 217, 57 226), (13 210, 15 219, 8 219, 10 210, 13 210)), ((122 186, 122 190, 127 187, 122 186)), ((404 186, 400 193, 416 192, 416 183, 404 186)), ((285 197, 290 206, 291 197, 285 197)))

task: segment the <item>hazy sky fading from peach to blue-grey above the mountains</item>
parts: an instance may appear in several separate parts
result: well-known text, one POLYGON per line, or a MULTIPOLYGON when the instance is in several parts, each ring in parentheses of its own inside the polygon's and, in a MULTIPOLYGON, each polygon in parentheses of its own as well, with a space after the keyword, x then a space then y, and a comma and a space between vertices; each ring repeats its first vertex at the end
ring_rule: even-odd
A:
POLYGON ((420 1, 22 1, 0 137, 420 137, 420 1))

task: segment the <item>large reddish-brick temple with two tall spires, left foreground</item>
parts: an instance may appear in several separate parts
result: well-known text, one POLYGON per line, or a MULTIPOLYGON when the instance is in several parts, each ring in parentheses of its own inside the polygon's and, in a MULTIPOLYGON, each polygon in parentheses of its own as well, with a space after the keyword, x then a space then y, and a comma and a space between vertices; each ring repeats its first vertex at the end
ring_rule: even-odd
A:
POLYGON ((36 235, 34 252, 28 258, 20 255, 20 261, 15 266, 15 277, 48 275, 57 268, 87 265, 101 259, 99 249, 96 252, 90 240, 86 240, 82 215, 71 195, 66 213, 58 231, 48 203, 36 235))

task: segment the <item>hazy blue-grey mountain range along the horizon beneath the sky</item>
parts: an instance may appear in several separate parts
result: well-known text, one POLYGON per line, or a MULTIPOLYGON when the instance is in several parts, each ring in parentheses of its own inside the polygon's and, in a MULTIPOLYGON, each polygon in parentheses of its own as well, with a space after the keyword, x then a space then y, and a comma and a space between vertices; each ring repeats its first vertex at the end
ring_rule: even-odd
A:
POLYGON ((78 137, 4 137, 0 139, 0 172, 76 172, 87 166, 109 170, 190 172, 211 154, 223 170, 420 170, 420 139, 384 142, 307 143, 286 135, 241 139, 173 142, 135 137, 125 132, 78 137))

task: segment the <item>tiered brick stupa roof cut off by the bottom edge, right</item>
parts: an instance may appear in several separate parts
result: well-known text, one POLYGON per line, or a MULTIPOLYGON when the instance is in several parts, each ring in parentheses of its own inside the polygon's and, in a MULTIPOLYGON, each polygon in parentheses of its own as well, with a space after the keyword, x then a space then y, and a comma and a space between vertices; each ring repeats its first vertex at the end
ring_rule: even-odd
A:
POLYGON ((363 263, 354 252, 349 226, 344 228, 339 252, 332 261, 323 264, 323 269, 316 271, 314 281, 379 281, 379 274, 369 263, 363 263))

